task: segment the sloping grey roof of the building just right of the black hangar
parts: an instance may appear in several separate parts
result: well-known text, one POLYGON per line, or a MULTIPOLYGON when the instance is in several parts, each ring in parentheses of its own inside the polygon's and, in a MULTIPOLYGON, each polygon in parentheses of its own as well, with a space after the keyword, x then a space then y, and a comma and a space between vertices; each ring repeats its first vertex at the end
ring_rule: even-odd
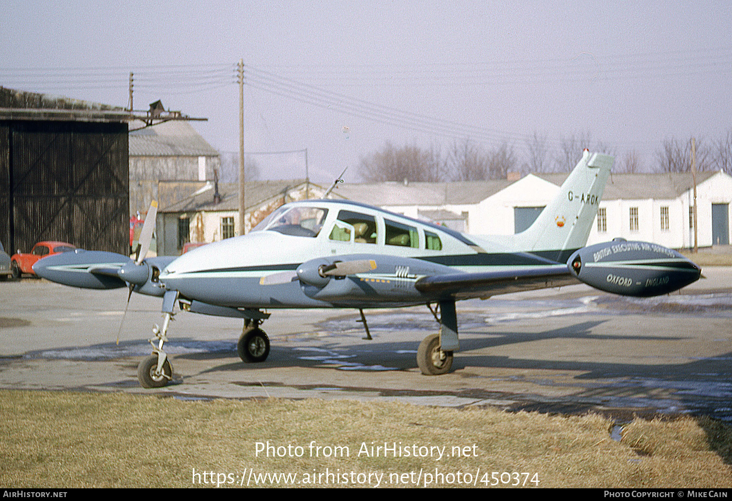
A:
POLYGON ((173 120, 130 132, 130 157, 217 157, 218 155, 219 152, 188 122, 173 120))

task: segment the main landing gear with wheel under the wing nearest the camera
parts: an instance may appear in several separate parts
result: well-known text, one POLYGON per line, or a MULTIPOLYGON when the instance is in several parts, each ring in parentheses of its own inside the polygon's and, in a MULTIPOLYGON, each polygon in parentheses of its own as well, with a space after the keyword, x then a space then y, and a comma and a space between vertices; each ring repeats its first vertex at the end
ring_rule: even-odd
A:
MULTIPOLYGON (((430 305, 432 314, 437 313, 430 305)), ((452 352, 460 349, 458 342, 458 316, 455 313, 455 301, 440 301, 440 332, 430 334, 417 349, 417 365, 425 376, 446 374, 452 368, 452 352)))

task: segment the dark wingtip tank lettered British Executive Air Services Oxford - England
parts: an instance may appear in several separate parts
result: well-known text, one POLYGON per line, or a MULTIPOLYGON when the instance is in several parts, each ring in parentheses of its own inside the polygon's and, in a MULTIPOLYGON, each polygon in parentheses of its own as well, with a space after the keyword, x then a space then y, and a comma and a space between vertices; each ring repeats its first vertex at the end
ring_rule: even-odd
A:
POLYGON ((701 268, 672 249, 617 239, 581 248, 567 261, 584 283, 624 296, 660 296, 695 282, 701 268))

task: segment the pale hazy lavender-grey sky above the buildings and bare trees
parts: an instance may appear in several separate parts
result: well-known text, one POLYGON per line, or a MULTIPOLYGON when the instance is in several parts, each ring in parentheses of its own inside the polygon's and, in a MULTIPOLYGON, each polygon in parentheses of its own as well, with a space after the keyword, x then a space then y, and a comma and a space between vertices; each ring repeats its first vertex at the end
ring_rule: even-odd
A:
MULTIPOLYGON (((591 133, 650 165, 665 138, 732 127, 729 2, 5 1, 0 85, 135 108, 154 100, 239 148, 236 62, 247 68, 245 149, 307 148, 329 184, 390 141, 523 157, 534 133, 591 133)), ((265 177, 305 155, 257 155, 265 177)))

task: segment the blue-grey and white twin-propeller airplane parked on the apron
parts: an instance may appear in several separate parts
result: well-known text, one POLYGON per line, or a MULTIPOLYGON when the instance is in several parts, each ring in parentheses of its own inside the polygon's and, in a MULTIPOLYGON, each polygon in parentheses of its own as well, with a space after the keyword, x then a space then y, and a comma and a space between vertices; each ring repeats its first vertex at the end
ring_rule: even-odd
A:
POLYGON ((180 257, 143 259, 153 204, 138 259, 76 250, 33 268, 70 286, 128 286, 130 294, 163 297, 163 328, 154 327, 153 353, 138 367, 143 387, 171 381, 163 344, 176 303, 184 311, 244 319, 237 349, 250 363, 269 355, 260 325, 270 313, 263 310, 357 308, 368 335, 365 308, 426 304, 441 328, 419 344, 417 365, 422 374, 444 374, 460 349, 457 300, 578 280, 616 294, 654 296, 699 278, 698 266, 660 245, 616 239, 583 248, 612 164, 613 157, 585 150, 556 198, 514 235, 467 235, 366 204, 308 200, 283 205, 244 236, 180 257), (439 305, 439 317, 432 305, 439 305))

